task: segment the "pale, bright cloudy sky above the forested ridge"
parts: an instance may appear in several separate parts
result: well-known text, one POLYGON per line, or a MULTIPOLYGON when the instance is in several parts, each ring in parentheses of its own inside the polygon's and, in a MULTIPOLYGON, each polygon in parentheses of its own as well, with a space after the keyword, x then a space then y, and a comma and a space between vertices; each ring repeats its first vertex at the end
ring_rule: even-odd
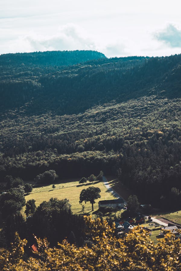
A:
POLYGON ((0 0, 0 54, 52 50, 180 54, 181 1, 0 0))

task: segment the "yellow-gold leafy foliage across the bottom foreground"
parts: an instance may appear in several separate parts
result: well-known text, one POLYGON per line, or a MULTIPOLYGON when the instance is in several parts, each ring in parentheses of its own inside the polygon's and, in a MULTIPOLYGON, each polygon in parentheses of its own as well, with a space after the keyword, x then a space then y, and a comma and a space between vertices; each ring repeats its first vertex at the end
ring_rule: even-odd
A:
POLYGON ((58 248, 50 248, 46 239, 37 239, 35 257, 24 260, 26 240, 16 241, 10 251, 0 249, 0 270, 113 270, 113 271, 178 271, 181 270, 181 242, 168 232, 154 244, 141 227, 123 238, 114 235, 114 226, 99 218, 85 217, 87 234, 94 245, 78 248, 66 240, 58 248))

